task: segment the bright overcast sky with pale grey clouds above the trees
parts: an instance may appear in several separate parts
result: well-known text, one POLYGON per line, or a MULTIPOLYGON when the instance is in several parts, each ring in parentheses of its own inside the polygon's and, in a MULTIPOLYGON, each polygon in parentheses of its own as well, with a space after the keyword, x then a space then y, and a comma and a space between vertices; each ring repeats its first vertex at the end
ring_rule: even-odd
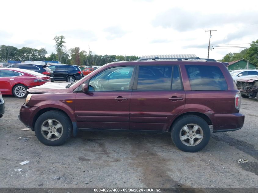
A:
MULTIPOLYGON (((0 45, 55 52, 56 35, 67 49, 98 55, 196 54, 211 44, 258 39, 258 1, 44 0, 1 1, 0 45)), ((244 48, 215 48, 213 59, 244 48)))

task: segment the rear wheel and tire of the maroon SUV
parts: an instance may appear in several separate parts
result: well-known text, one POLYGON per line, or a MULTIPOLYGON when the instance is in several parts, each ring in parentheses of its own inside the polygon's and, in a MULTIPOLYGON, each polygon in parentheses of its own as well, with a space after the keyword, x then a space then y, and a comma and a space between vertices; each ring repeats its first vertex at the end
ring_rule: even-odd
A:
POLYGON ((182 116, 173 124, 171 138, 173 143, 180 150, 184 152, 198 152, 202 150, 209 142, 209 125, 199 116, 182 116), (194 132, 193 130, 196 131, 194 132), (190 132, 188 133, 189 135, 187 132, 190 132))

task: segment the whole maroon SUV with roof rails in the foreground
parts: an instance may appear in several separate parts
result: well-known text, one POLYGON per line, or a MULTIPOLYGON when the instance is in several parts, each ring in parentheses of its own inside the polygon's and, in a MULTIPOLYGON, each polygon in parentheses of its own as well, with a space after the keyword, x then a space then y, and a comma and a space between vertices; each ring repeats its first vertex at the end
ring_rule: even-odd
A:
POLYGON ((140 59, 106 64, 76 83, 28 89, 20 120, 45 145, 78 130, 171 132, 179 149, 196 152, 213 132, 243 127, 241 94, 213 59, 140 59))

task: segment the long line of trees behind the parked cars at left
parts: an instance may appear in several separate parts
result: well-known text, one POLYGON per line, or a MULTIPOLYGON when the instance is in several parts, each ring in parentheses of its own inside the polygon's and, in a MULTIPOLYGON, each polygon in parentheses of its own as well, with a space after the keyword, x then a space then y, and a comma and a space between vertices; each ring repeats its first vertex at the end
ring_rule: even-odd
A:
POLYGON ((0 46, 0 61, 17 60, 17 61, 30 61, 30 60, 42 60, 42 61, 59 61, 62 64, 72 64, 78 66, 102 66, 106 63, 118 62, 118 61, 133 61, 140 59, 138 56, 123 56, 123 55, 97 55, 93 54, 90 50, 86 52, 80 50, 79 47, 67 49, 64 36, 55 36, 56 53, 52 52, 47 55, 48 52, 45 48, 16 48, 9 45, 0 46))

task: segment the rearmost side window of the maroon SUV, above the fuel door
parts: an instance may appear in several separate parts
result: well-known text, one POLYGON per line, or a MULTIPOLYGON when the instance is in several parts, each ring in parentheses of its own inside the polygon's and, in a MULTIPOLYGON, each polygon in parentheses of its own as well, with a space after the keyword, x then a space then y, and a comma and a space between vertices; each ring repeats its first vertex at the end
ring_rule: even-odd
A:
POLYGON ((186 65, 192 91, 225 91, 227 82, 218 66, 186 65))

